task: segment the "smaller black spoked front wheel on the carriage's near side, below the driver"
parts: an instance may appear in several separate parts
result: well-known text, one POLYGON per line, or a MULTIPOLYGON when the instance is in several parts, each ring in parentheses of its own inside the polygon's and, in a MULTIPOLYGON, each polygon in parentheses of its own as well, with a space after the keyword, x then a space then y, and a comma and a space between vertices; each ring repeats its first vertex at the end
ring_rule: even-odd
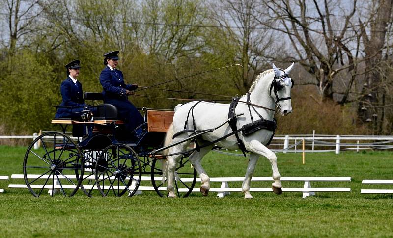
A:
POLYGON ((140 185, 141 175, 137 154, 125 144, 105 148, 95 165, 95 182, 102 196, 111 193, 120 197, 126 192, 133 196, 140 185))

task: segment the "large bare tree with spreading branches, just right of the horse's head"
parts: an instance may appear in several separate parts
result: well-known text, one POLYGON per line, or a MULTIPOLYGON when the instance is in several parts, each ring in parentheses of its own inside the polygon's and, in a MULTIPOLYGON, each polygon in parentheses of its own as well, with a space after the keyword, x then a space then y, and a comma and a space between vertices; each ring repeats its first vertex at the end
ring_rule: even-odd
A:
POLYGON ((267 15, 271 18, 268 22, 260 21, 260 24, 286 35, 296 56, 282 56, 298 61, 315 76, 312 84, 317 86, 321 101, 333 99, 333 82, 337 73, 348 70, 351 79, 341 100, 346 102, 357 75, 356 54, 359 49, 356 45, 359 37, 354 34, 351 22, 356 2, 345 2, 342 6, 342 2, 337 0, 265 1, 269 9, 267 15))

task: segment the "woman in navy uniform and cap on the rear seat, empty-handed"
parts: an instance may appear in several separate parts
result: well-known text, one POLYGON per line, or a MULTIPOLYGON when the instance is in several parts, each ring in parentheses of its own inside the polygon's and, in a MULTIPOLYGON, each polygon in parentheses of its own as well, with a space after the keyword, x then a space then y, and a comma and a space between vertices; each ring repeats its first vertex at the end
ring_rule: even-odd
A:
POLYGON ((60 106, 70 106, 72 108, 59 107, 55 118, 71 117, 77 118, 84 110, 84 99, 82 84, 77 80, 79 76, 80 61, 73 60, 64 66, 67 69, 67 79, 60 85, 61 97, 60 106), (79 112, 79 113, 78 113, 79 112))

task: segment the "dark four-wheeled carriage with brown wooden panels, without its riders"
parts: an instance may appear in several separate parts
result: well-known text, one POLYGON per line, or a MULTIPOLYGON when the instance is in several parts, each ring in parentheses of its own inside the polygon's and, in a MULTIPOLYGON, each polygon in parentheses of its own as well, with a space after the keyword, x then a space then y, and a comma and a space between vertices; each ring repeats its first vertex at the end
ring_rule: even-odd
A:
MULTIPOLYGON (((162 180, 163 157, 150 152, 162 146, 174 112, 144 107, 145 123, 137 128, 142 129, 142 133, 119 138, 117 132, 122 130, 123 121, 117 119, 116 107, 94 106, 94 101, 102 100, 101 93, 84 93, 84 98, 92 100, 93 106, 87 106, 79 118, 53 119, 52 123, 60 125, 62 133, 42 134, 28 147, 23 172, 30 192, 39 197, 44 189, 50 189, 52 196, 56 192, 73 196, 80 189, 87 196, 92 196, 94 190, 102 196, 133 196, 144 175, 151 178, 154 190, 163 196, 166 190, 165 180, 162 180), (95 117, 89 114, 89 107, 97 108, 95 117), (66 134, 70 125, 74 139, 66 134), (93 131, 86 135, 85 128, 89 126, 93 131), (36 143, 42 147, 37 151, 36 143), (45 180, 44 185, 42 180, 45 180)), ((191 193, 197 179, 197 172, 187 159, 189 154, 182 155, 176 168, 180 197, 191 193)))

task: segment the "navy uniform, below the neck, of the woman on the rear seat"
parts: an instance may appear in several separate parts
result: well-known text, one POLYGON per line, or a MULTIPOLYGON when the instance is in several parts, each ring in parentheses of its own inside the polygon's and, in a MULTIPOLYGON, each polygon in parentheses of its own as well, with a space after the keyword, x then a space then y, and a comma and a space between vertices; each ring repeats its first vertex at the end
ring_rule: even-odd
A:
POLYGON ((60 106, 71 106, 70 108, 58 108, 55 117, 71 117, 73 113, 83 111, 84 99, 82 84, 77 81, 77 85, 68 77, 60 85, 61 97, 63 98, 60 106))

